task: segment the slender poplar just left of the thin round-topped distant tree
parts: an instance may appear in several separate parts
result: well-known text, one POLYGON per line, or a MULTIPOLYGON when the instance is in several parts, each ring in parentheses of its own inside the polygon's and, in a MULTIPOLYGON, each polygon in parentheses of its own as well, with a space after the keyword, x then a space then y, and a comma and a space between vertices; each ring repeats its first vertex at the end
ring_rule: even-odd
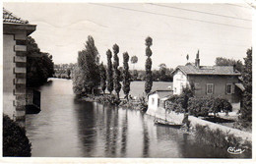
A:
POLYGON ((130 92, 130 73, 129 73, 129 54, 127 52, 123 53, 123 92, 128 100, 128 95, 130 92))

